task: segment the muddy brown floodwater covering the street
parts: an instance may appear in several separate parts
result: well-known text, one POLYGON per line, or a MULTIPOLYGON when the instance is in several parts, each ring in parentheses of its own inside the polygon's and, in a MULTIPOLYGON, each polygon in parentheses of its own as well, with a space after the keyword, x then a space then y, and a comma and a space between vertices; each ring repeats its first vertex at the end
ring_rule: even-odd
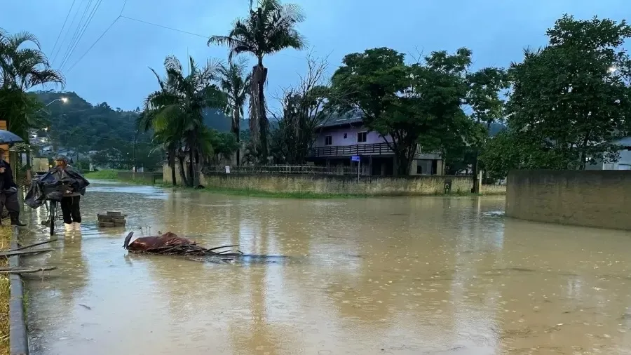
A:
MULTIPOLYGON (((631 354, 631 234, 503 197, 253 199, 94 182, 81 236, 26 264, 32 354, 631 354), (128 227, 97 229, 121 210, 128 227), (128 255, 171 231, 286 262, 128 255)), ((43 211, 27 241, 46 239, 43 211)))

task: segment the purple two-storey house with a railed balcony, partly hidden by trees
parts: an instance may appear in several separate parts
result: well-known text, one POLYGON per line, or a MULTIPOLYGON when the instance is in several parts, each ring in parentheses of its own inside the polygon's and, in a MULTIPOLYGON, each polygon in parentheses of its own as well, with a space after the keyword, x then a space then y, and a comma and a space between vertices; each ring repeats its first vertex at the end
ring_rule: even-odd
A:
MULTIPOLYGON (((308 161, 317 166, 357 166, 351 156, 360 156, 362 175, 393 175, 395 154, 386 143, 392 142, 388 135, 369 131, 358 112, 328 119, 316 128, 317 138, 308 156, 308 161)), ((416 147, 410 175, 443 175, 442 155, 437 151, 416 147)))

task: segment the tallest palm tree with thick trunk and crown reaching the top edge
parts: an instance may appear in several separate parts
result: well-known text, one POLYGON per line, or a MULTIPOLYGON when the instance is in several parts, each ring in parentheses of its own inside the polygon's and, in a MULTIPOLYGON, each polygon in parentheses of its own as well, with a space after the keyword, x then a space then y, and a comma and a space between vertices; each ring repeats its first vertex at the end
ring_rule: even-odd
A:
POLYGON ((236 20, 228 36, 208 39, 209 46, 211 43, 229 46, 230 62, 239 53, 250 53, 257 58, 250 83, 250 135, 252 142, 259 144, 263 159, 267 159, 268 155, 269 128, 264 95, 267 68, 263 66, 263 58, 285 48, 304 48, 305 41, 296 30, 297 23, 304 18, 298 5, 283 5, 278 0, 258 0, 255 8, 254 1, 250 0, 249 16, 236 20))

